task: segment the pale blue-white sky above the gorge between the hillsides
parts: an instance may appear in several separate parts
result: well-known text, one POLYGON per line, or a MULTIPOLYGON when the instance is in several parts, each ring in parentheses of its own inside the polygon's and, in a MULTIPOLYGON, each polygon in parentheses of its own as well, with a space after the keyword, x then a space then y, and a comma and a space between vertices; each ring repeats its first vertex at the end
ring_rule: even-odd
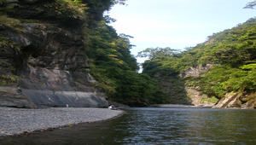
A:
MULTIPOLYGON (((118 33, 131 35, 132 55, 147 48, 184 49, 201 44, 213 32, 243 23, 256 10, 242 9, 253 0, 127 0, 106 14, 118 33)), ((137 58, 142 63, 145 59, 137 58)))

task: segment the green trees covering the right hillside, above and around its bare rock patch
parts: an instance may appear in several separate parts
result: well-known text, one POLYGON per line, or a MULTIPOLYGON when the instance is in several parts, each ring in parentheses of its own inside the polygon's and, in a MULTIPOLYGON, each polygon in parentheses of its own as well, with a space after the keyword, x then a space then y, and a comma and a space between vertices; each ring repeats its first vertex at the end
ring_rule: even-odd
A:
MULTIPOLYGON (((255 2, 248 6, 254 6, 255 2)), ((189 67, 215 64, 204 77, 186 78, 189 86, 200 86, 207 96, 222 98, 227 92, 243 94, 256 91, 256 19, 251 18, 223 32, 213 33, 207 42, 182 52, 172 49, 145 49, 138 53, 148 57, 143 73, 177 76, 189 67)))

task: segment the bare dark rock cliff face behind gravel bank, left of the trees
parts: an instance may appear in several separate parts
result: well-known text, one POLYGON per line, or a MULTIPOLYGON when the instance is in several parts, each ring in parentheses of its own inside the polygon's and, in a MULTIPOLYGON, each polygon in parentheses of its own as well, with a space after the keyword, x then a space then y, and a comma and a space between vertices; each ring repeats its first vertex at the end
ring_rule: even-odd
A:
MULTIPOLYGON (((16 32, 1 27, 0 36, 9 38, 19 49, 6 46, 9 56, 1 55, 0 61, 8 61, 8 69, 14 68, 6 76, 19 78, 17 85, 26 101, 37 107, 108 107, 106 96, 92 86, 96 81, 90 76, 81 28, 25 22, 20 29, 16 32)), ((6 66, 0 68, 7 70, 6 66)), ((17 90, 15 84, 12 87, 17 90)), ((3 98, 0 106, 17 107, 13 105, 15 94, 3 98)), ((20 103, 20 107, 31 107, 20 103)))

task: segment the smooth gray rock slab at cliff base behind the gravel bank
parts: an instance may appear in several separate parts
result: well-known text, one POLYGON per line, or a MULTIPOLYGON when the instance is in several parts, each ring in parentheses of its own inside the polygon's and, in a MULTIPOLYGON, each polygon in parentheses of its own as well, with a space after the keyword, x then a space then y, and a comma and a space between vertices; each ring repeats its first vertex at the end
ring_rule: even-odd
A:
POLYGON ((38 107, 108 107, 105 96, 96 92, 22 90, 38 107))

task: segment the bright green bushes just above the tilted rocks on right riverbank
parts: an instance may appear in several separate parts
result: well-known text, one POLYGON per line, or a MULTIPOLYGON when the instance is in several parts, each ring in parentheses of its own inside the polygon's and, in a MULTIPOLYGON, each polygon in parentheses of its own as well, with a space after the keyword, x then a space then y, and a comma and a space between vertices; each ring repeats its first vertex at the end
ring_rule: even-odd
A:
POLYGON ((202 82, 206 84, 202 88, 209 96, 224 97, 227 92, 252 92, 256 91, 256 72, 251 68, 255 65, 245 65, 241 68, 216 66, 206 73, 202 82), (248 67, 249 66, 249 67, 248 67))

